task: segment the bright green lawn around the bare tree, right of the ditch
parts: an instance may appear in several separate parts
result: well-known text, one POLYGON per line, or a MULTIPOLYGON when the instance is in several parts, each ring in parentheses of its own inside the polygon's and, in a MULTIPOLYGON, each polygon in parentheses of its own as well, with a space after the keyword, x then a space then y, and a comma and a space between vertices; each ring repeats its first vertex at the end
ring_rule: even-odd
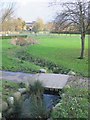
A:
POLYGON ((37 37, 37 39, 40 44, 30 46, 28 48, 30 54, 88 76, 88 37, 86 37, 85 58, 83 60, 77 59, 80 56, 81 47, 78 35, 42 36, 37 37))

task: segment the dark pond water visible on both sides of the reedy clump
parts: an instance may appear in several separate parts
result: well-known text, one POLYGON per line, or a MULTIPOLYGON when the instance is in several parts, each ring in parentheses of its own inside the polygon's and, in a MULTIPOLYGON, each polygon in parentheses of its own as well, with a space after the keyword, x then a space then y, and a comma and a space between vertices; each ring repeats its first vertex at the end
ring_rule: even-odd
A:
MULTIPOLYGON (((46 107, 46 111, 50 111, 60 100, 60 96, 43 94, 43 101, 46 107)), ((22 106, 21 117, 29 118, 30 117, 30 98, 26 99, 22 106)))

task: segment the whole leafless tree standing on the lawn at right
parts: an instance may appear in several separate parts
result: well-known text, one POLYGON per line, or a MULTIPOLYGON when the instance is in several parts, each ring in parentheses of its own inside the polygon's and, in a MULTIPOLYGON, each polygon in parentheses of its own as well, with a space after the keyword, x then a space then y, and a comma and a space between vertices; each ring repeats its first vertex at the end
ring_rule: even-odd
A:
POLYGON ((90 1, 80 1, 63 3, 63 10, 57 14, 55 23, 60 29, 67 28, 70 25, 75 26, 81 34, 81 54, 79 59, 84 58, 85 34, 90 26, 90 1))

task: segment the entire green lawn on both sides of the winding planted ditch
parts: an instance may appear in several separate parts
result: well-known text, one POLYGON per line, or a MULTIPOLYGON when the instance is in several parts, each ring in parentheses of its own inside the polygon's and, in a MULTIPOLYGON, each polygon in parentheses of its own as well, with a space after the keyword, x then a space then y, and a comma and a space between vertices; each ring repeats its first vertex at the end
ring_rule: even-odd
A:
MULTIPOLYGON (((85 40, 85 58, 80 56, 80 35, 38 35, 31 36, 38 40, 37 45, 28 46, 26 53, 34 58, 40 58, 55 63, 64 69, 71 69, 80 75, 88 76, 88 36, 85 40)), ((20 49, 25 47, 10 44, 10 39, 2 41, 2 69, 11 71, 36 72, 41 67, 33 61, 21 60, 15 56, 20 49)), ((23 52, 22 52, 23 56, 23 52)), ((25 56, 24 56, 25 57, 25 56)))

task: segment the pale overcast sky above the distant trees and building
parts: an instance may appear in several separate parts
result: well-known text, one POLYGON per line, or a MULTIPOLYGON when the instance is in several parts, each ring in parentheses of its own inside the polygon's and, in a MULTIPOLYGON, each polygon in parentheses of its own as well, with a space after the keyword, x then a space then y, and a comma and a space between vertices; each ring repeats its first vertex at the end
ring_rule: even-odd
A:
MULTIPOLYGON (((35 21, 42 18, 45 22, 52 21, 55 13, 58 10, 56 6, 49 7, 49 3, 55 0, 3 0, 5 2, 16 2, 16 15, 21 17, 26 22, 35 21)), ((71 0, 60 0, 67 2, 71 0)))

